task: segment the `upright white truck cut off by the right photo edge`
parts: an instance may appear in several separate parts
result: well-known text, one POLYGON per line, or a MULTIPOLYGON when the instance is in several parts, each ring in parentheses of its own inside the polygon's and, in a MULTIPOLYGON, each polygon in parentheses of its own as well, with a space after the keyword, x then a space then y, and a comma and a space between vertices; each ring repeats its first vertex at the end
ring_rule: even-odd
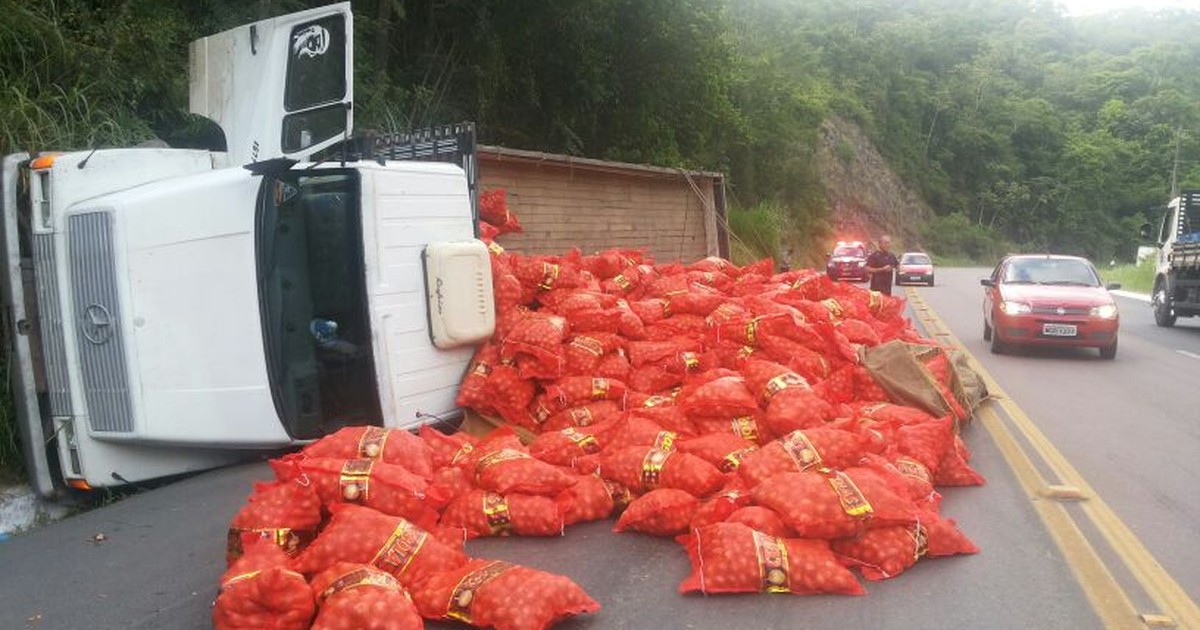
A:
POLYGON ((1154 323, 1174 326, 1176 318, 1200 316, 1200 190, 1171 199, 1158 229, 1142 226, 1141 236, 1154 240, 1154 323))

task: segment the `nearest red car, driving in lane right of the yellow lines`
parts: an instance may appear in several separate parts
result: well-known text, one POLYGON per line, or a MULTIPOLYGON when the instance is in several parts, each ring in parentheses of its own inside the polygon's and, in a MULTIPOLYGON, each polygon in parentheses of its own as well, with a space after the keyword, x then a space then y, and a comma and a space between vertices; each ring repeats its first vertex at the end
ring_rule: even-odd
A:
POLYGON ((1099 274, 1075 256, 1009 256, 984 286, 983 338, 991 352, 1013 346, 1099 348, 1117 355, 1120 314, 1099 274))

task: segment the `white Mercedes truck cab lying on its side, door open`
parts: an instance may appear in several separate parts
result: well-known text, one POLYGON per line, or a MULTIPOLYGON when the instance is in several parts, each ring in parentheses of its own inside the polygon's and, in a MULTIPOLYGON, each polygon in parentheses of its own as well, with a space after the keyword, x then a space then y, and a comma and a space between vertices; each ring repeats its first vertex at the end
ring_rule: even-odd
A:
POLYGON ((34 488, 221 466, 455 413, 493 329, 462 168, 312 161, 349 138, 349 2, 191 44, 224 151, 2 160, 4 314, 34 488))

